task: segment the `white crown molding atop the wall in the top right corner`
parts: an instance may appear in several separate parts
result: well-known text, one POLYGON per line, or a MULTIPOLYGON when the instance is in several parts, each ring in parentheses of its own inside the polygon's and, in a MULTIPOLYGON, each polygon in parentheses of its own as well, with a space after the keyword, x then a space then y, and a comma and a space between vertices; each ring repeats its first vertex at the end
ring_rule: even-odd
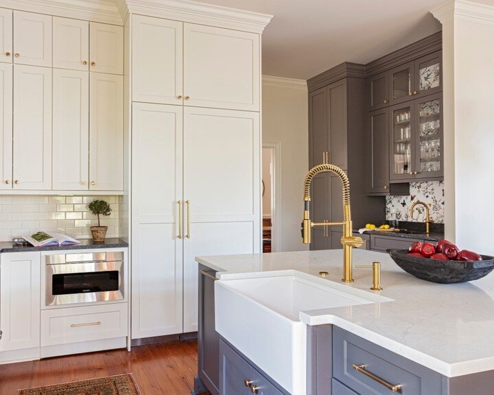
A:
POLYGON ((443 23, 451 18, 463 21, 481 23, 482 25, 494 25, 494 6, 475 1, 453 0, 440 5, 431 11, 431 14, 443 23))

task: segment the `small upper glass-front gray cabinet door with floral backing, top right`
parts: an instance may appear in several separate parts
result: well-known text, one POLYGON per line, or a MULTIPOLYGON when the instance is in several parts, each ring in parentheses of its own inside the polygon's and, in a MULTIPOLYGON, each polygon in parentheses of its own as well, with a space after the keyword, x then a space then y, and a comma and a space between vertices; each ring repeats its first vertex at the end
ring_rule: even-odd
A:
POLYGON ((443 90, 442 60, 442 51, 438 51, 415 61, 416 86, 412 93, 417 97, 443 90))

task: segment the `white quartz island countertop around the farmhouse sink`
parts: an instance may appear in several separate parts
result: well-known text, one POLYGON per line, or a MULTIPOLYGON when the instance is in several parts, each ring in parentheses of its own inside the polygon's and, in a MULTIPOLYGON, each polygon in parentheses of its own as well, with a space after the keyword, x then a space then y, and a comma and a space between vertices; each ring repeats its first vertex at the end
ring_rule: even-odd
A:
POLYGON ((303 311, 308 325, 334 324, 454 377, 494 370, 494 274, 471 283, 435 284, 401 270, 388 254, 353 250, 354 283, 344 284, 342 250, 200 256, 196 261, 217 271, 220 280, 259 272, 297 270, 346 287, 366 290, 390 302, 303 311), (382 291, 371 291, 372 270, 355 265, 381 262, 382 291))

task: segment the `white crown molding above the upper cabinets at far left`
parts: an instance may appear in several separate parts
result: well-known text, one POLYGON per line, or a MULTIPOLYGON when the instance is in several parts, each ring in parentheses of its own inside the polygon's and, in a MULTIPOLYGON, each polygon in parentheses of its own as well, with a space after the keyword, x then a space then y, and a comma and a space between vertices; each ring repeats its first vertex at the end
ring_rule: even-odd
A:
POLYGON ((122 25, 114 0, 0 0, 0 7, 122 25))

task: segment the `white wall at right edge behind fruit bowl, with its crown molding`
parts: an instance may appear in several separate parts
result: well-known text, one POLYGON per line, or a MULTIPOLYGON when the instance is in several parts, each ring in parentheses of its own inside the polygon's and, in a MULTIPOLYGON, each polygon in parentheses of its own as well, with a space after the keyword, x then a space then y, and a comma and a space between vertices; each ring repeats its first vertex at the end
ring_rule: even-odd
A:
POLYGON ((494 254, 494 6, 451 1, 443 23, 445 232, 461 249, 494 254))

